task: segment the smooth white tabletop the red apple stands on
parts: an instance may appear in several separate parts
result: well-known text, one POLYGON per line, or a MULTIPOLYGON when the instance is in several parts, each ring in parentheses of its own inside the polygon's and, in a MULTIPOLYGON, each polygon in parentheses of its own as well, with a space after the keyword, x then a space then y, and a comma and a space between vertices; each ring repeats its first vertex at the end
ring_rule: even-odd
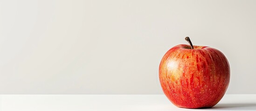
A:
POLYGON ((256 111, 256 94, 226 94, 210 109, 178 108, 165 95, 0 95, 0 111, 256 111))

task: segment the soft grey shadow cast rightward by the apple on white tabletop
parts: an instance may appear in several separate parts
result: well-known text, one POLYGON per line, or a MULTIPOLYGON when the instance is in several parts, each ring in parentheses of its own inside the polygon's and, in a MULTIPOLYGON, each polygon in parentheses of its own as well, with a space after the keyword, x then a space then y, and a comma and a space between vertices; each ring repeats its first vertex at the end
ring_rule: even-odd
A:
POLYGON ((210 108, 210 110, 221 110, 221 111, 256 111, 256 103, 248 103, 248 104, 217 104, 214 107, 210 108))

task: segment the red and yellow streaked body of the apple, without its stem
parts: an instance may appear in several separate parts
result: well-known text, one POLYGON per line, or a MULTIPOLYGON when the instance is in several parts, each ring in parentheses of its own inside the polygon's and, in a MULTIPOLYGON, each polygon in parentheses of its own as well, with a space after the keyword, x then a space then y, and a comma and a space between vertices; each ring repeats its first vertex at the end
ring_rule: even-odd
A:
POLYGON ((224 96, 230 79, 227 58, 207 46, 180 44, 169 49, 159 65, 166 97, 183 108, 210 108, 224 96))

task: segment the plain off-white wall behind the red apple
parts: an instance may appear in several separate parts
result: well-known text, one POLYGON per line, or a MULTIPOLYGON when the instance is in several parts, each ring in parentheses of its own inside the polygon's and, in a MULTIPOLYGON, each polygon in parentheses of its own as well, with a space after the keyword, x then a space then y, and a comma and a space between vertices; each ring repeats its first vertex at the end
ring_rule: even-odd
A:
POLYGON ((158 94, 168 49, 221 50, 256 93, 256 0, 0 0, 0 94, 158 94))

